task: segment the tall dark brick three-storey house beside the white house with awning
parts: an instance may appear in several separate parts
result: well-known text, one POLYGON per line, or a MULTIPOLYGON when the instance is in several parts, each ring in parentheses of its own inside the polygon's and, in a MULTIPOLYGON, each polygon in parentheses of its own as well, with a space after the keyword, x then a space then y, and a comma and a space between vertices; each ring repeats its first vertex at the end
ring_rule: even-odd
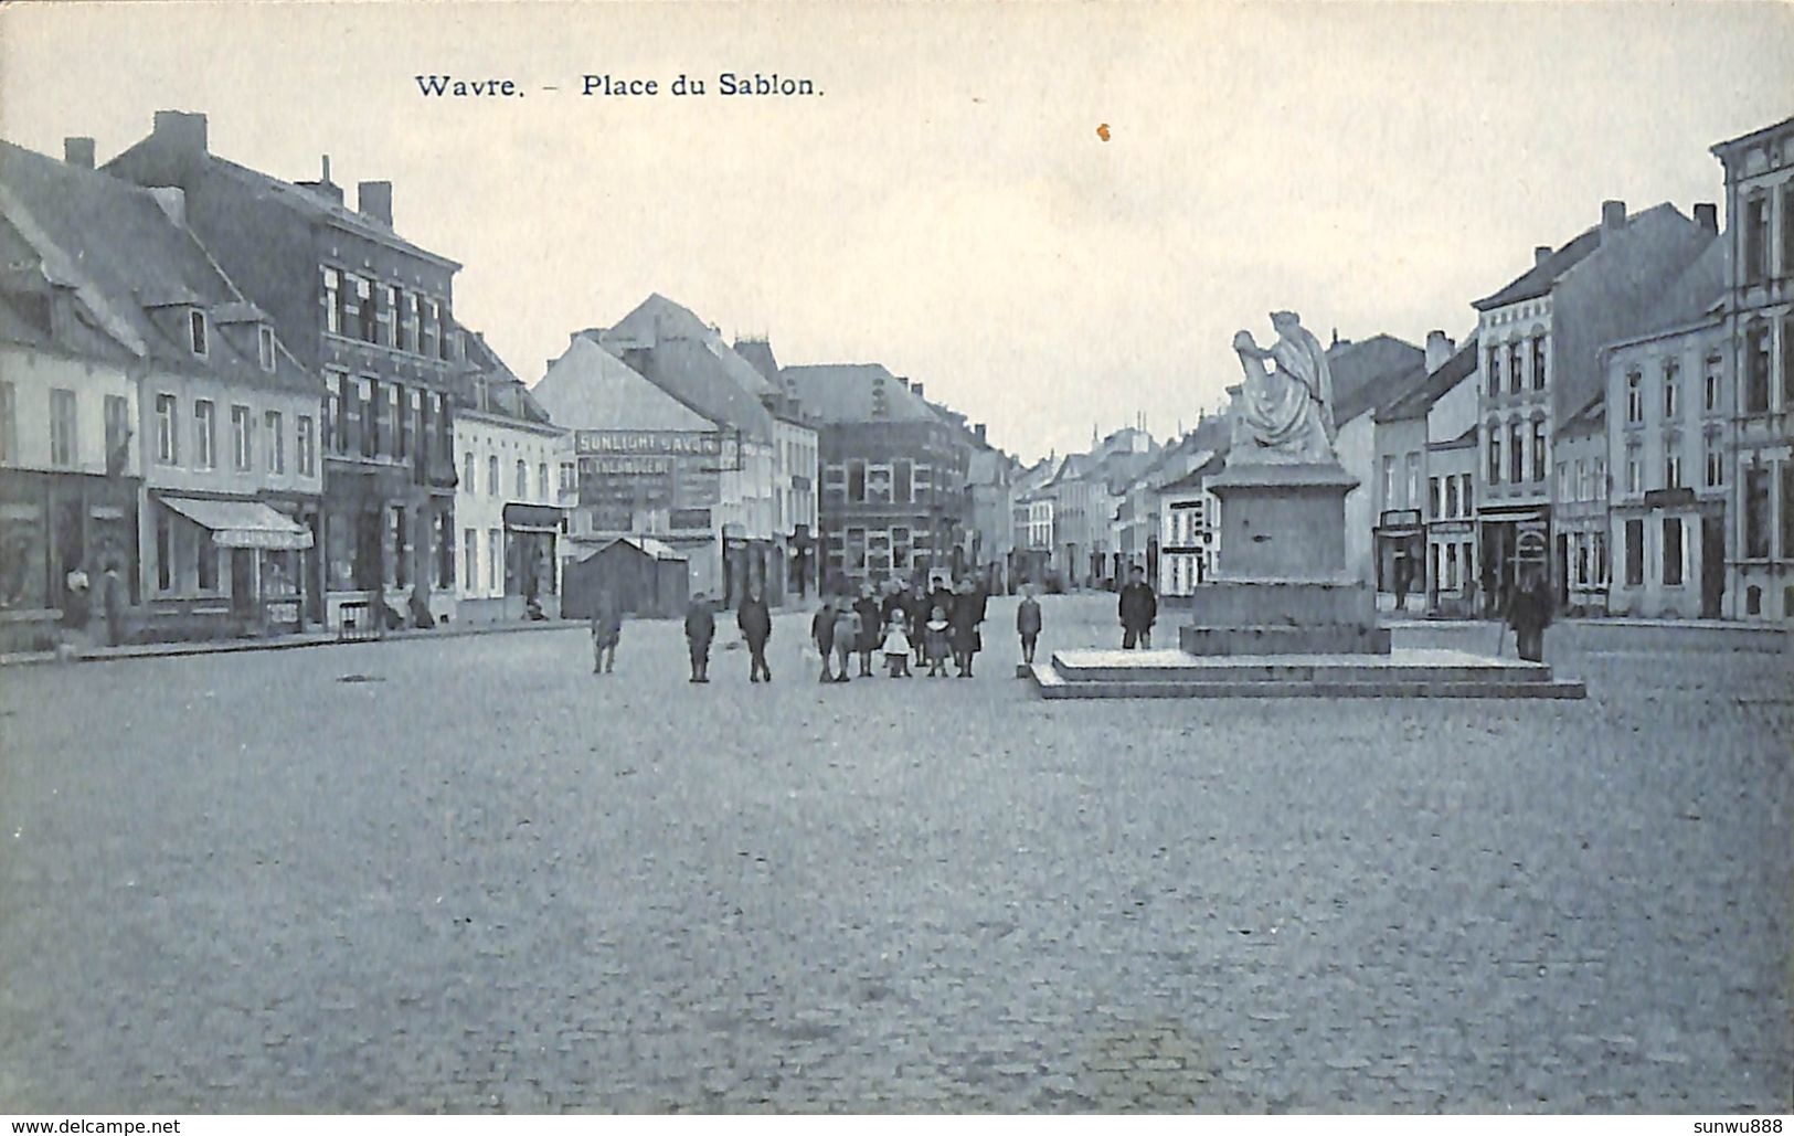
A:
POLYGON ((285 181, 213 154, 205 115, 156 111, 104 169, 169 199, 325 384, 310 617, 454 616, 461 266, 398 235, 391 181, 359 183, 350 208, 328 156, 316 181, 285 181))

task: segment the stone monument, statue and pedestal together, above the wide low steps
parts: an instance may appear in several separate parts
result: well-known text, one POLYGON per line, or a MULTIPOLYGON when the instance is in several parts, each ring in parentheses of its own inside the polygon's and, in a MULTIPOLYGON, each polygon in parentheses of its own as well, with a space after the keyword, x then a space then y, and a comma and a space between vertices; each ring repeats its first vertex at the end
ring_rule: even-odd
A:
POLYGON ((1234 336, 1245 379, 1229 388, 1227 468, 1209 481, 1222 506, 1220 556, 1179 646, 1191 655, 1387 655, 1376 596, 1346 565, 1346 494, 1358 479, 1333 450, 1326 348, 1295 312, 1272 312, 1270 323, 1270 348, 1252 332, 1234 336))

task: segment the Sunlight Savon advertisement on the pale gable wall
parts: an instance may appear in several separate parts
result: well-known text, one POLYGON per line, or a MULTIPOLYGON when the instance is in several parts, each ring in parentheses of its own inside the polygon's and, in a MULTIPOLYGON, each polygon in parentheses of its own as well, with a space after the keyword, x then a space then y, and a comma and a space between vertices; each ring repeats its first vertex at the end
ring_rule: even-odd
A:
POLYGON ((574 454, 579 504, 617 513, 710 508, 728 465, 703 431, 574 431, 574 454))

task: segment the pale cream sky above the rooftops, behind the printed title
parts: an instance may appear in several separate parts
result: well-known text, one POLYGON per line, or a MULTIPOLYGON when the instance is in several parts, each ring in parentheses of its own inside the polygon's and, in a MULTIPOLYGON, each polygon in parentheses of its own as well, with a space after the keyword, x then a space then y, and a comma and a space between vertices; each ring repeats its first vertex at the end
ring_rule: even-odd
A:
POLYGON ((350 203, 391 179, 526 382, 658 291, 780 363, 883 363, 1035 458, 1136 411, 1191 425, 1272 309, 1462 336, 1602 199, 1720 201, 1708 147, 1794 113, 1794 5, 0 9, 0 136, 106 162, 156 109, 280 178, 328 153, 350 203), (725 70, 823 93, 721 97, 725 70), (680 72, 709 95, 666 93, 680 72))

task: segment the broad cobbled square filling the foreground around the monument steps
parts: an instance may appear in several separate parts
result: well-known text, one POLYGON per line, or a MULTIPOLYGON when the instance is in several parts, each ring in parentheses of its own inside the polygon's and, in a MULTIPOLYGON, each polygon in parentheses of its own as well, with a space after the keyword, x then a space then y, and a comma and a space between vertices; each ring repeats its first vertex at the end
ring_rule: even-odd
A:
POLYGON ((0 1111, 1794 1107, 1787 655, 1042 703, 990 617, 7 669, 0 1111))

